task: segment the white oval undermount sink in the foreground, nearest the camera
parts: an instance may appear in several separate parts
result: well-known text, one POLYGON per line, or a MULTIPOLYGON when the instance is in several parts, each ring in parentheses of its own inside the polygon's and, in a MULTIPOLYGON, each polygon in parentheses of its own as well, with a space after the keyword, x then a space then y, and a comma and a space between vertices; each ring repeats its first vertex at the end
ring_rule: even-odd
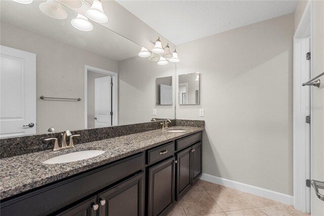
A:
POLYGON ((65 155, 56 156, 54 158, 50 158, 44 161, 43 163, 46 164, 69 163, 73 161, 80 161, 80 160, 93 158, 103 153, 105 153, 105 151, 102 150, 86 150, 80 152, 73 152, 65 155))

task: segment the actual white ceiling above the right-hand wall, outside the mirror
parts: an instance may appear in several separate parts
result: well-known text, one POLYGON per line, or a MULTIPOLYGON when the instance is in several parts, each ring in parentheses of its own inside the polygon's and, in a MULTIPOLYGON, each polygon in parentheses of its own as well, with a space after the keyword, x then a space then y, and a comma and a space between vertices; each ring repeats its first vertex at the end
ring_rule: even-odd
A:
POLYGON ((295 12, 297 1, 117 2, 175 45, 295 12))

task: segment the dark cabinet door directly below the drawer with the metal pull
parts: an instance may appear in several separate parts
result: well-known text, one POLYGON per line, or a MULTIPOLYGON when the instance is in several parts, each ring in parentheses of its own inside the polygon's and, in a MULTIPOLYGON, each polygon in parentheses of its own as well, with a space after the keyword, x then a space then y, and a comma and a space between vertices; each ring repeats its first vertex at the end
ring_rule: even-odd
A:
POLYGON ((148 168, 148 215, 166 212, 174 203, 175 157, 148 168))

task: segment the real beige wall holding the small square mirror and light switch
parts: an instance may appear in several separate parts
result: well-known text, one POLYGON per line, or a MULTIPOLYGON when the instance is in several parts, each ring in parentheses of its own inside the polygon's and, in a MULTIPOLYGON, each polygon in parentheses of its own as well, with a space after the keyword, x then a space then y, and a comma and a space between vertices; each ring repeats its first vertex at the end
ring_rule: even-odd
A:
POLYGON ((177 74, 200 73, 176 117, 206 121, 204 173, 293 194, 293 35, 289 14, 177 46, 177 74))

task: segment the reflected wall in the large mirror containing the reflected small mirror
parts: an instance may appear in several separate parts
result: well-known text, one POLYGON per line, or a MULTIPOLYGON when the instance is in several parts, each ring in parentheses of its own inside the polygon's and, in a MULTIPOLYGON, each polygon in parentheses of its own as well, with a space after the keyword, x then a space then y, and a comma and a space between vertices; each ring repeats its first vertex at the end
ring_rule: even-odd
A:
MULTIPOLYGON (((174 94, 175 65, 157 65, 138 56, 119 61, 119 124, 148 122, 151 118, 174 119, 173 105, 156 105, 155 79, 172 76, 174 94), (153 116, 153 109, 157 115, 153 116)), ((173 99, 174 100, 174 99, 173 99)))

